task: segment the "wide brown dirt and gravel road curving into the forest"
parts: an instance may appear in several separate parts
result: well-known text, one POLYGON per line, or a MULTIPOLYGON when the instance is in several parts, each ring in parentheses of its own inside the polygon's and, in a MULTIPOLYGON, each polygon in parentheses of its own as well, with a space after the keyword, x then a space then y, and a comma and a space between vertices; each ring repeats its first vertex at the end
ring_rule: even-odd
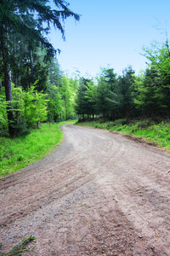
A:
POLYGON ((54 153, 0 180, 0 241, 23 255, 170 255, 170 157, 74 125, 54 153))

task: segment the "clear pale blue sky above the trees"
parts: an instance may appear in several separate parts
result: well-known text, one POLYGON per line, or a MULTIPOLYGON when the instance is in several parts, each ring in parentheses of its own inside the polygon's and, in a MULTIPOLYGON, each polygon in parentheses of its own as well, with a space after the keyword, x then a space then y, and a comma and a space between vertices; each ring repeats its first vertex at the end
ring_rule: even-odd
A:
POLYGON ((49 38, 60 49, 61 69, 73 76, 95 77, 101 67, 117 74, 129 65, 136 74, 147 61, 143 47, 170 37, 170 0, 68 0, 80 21, 65 21, 65 41, 59 31, 49 38))

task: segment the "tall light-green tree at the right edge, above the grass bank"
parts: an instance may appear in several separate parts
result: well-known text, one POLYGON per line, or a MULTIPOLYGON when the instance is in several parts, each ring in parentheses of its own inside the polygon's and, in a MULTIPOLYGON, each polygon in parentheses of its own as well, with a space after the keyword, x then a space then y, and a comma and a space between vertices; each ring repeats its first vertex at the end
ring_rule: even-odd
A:
POLYGON ((150 115, 167 116, 170 110, 170 50, 166 41, 161 46, 153 44, 144 49, 144 55, 150 61, 146 70, 144 84, 139 88, 138 107, 150 115))

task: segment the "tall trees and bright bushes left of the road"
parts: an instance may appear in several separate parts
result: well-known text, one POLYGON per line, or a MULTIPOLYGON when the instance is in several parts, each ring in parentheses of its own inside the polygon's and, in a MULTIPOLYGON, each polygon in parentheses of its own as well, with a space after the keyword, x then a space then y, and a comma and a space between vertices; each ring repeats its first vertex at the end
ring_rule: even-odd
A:
POLYGON ((79 20, 64 0, 3 0, 0 4, 0 134, 14 137, 40 122, 71 118, 77 80, 64 76, 48 41, 52 26, 79 20), (53 6, 53 8, 52 8, 53 6))

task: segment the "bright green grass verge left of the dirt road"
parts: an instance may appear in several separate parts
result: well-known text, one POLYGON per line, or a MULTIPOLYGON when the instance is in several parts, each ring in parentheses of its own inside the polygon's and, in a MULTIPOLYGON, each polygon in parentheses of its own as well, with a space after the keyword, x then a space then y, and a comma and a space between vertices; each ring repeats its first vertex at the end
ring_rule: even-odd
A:
POLYGON ((0 177, 41 159, 52 150, 63 137, 60 125, 74 123, 74 121, 57 124, 42 124, 40 129, 32 130, 25 137, 0 137, 0 177))

